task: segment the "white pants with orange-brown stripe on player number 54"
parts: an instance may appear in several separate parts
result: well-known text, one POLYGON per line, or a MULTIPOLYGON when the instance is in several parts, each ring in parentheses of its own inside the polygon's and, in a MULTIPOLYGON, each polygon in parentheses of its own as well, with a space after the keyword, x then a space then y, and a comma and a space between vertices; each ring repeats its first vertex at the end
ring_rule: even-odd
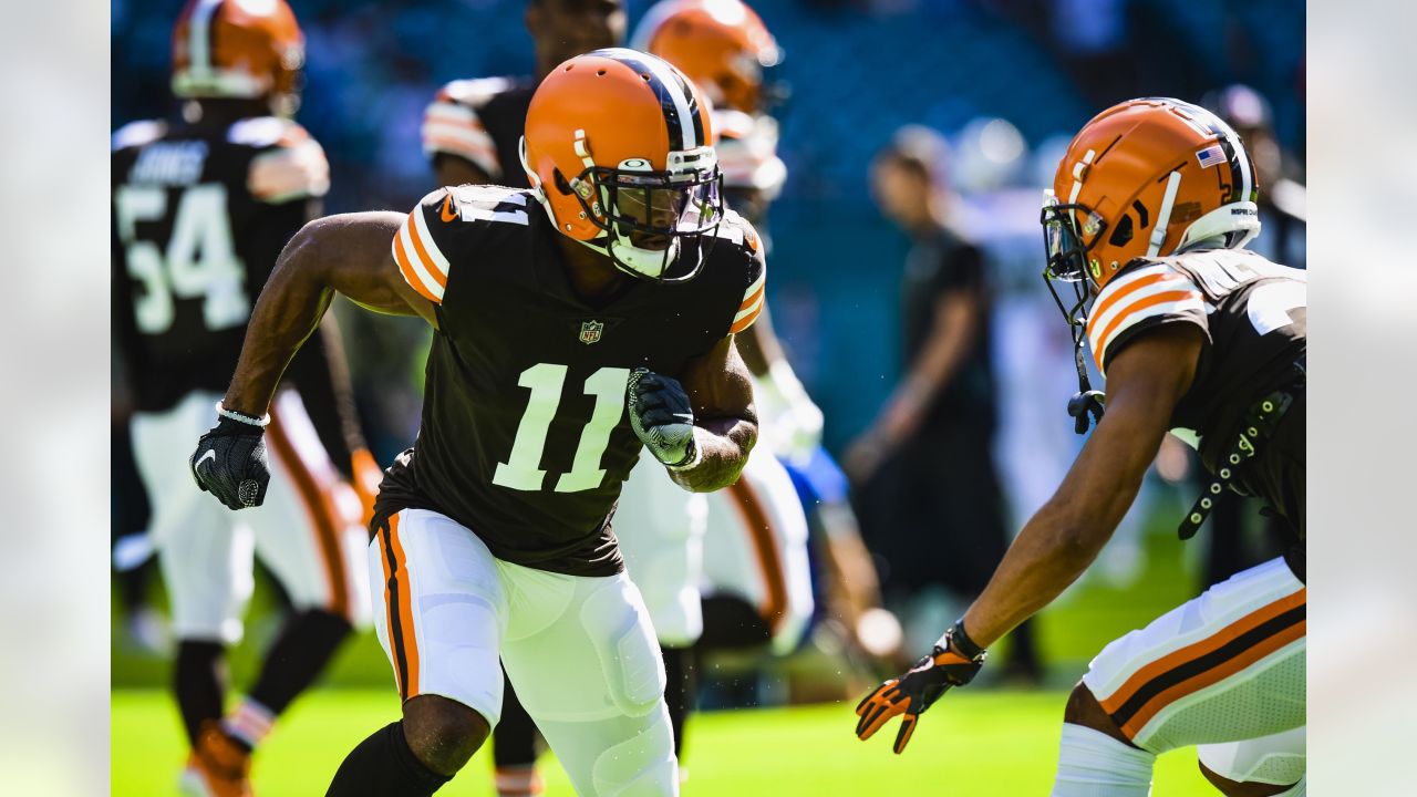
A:
POLYGON ((133 416, 133 455, 152 505, 157 546, 181 640, 241 638, 259 556, 296 608, 368 621, 368 532, 360 505, 320 445, 299 396, 281 391, 266 428, 271 486, 261 506, 232 512, 201 492, 187 458, 217 424, 215 393, 193 393, 164 413, 133 416))

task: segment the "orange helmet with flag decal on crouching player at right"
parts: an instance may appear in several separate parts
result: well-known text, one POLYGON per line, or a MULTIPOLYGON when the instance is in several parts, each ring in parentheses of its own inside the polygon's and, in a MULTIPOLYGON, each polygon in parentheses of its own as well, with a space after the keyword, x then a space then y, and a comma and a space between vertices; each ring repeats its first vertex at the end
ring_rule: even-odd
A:
POLYGON ((1044 191, 1043 277, 1073 328, 1080 390, 1068 403, 1078 434, 1101 418, 1083 363, 1088 299, 1127 264, 1200 244, 1240 248, 1260 233, 1250 155, 1229 125, 1197 105, 1131 99, 1093 118, 1044 191), (1066 200, 1060 201, 1060 197, 1066 200), (1070 284, 1067 305, 1057 284, 1070 284))

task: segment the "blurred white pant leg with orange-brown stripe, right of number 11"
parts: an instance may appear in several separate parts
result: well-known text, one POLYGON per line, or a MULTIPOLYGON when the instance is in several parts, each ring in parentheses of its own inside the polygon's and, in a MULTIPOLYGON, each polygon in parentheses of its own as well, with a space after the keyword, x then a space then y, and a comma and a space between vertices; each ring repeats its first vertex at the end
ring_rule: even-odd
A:
POLYGON ((704 594, 757 606, 772 650, 791 652, 812 618, 808 520, 792 476, 765 448, 754 450, 738 484, 708 494, 704 594))

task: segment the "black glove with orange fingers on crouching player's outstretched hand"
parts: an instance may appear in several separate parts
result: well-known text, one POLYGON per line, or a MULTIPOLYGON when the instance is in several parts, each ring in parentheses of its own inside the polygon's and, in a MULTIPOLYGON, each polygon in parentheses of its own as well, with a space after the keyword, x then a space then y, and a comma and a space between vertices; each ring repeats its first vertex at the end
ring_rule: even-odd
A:
POLYGON ((964 632, 964 621, 945 631, 947 647, 935 645, 915 667, 900 678, 891 678, 856 705, 856 736, 870 739, 894 716, 900 716, 896 733, 896 753, 900 754, 915 733, 915 723, 951 686, 964 686, 983 667, 988 651, 979 648, 964 632))

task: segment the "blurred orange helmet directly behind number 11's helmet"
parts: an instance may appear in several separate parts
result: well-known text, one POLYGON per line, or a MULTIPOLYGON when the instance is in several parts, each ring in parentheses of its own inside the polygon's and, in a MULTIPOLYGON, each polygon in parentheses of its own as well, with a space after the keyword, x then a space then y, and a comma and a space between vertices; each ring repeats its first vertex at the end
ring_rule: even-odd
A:
POLYGON ((631 47, 684 71, 716 105, 762 111, 764 69, 782 51, 758 14, 740 0, 663 0, 645 14, 631 47))

